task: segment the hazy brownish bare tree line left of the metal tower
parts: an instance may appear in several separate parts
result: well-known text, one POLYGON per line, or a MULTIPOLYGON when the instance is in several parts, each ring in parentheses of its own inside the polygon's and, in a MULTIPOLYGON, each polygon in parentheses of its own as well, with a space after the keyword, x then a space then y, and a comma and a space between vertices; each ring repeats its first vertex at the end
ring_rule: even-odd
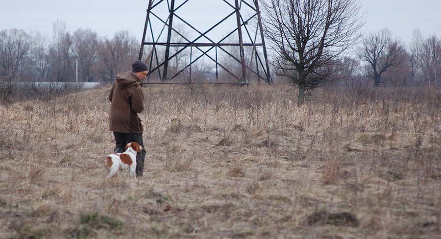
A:
POLYGON ((53 24, 51 38, 21 29, 0 31, 0 77, 20 81, 111 82, 138 57, 140 43, 128 31, 112 38, 91 29, 53 24), (77 65, 76 65, 77 64, 77 65))

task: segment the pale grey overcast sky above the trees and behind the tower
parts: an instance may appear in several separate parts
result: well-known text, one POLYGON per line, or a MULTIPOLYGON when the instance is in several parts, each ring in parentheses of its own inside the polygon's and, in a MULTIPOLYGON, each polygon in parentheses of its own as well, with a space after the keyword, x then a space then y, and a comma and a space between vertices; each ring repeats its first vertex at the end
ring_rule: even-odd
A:
MULTIPOLYGON (((0 0, 0 30, 19 28, 52 35, 52 24, 64 21, 68 30, 90 28, 99 36, 112 37, 118 30, 128 30, 141 40, 146 17, 147 0, 0 0)), ((178 3, 183 0, 176 0, 178 3)), ((229 0, 230 2, 234 2, 229 0)), ((441 37, 441 0, 361 0, 367 13, 364 32, 387 27, 403 42, 412 39, 419 28, 423 36, 441 37)), ((176 3, 176 4, 178 4, 176 3)), ((219 21, 231 7, 222 0, 190 0, 178 14, 192 24, 219 21)), ((161 14, 158 12, 158 14, 161 14)), ((202 25, 203 27, 204 25, 202 25)), ((162 27, 159 26, 160 28, 162 27)), ((222 25, 217 34, 229 32, 222 25)), ((234 25, 233 25, 234 29, 234 25)), ((205 29, 201 29, 205 30, 205 29)))

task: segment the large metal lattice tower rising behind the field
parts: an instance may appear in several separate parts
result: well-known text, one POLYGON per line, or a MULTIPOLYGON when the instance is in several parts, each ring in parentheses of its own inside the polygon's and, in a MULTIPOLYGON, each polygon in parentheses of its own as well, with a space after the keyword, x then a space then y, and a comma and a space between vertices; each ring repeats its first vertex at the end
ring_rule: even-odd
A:
MULTIPOLYGON (((272 83, 272 79, 270 77, 270 67, 268 63, 268 55, 267 55, 267 49, 265 46, 265 38, 263 34, 262 29, 262 21, 261 21, 261 14, 259 10, 259 2, 258 0, 219 0, 221 2, 224 2, 227 4, 229 9, 231 9, 231 12, 227 12, 226 16, 218 21, 217 23, 213 24, 211 27, 208 28, 208 30, 201 31, 197 29, 193 24, 190 24, 188 21, 181 18, 179 15, 179 10, 184 7, 184 5, 189 5, 190 0, 181 0, 182 3, 176 4, 178 0, 148 0, 148 8, 147 8, 147 16, 146 16, 146 23, 144 26, 144 32, 143 32, 143 38, 141 43, 141 49, 139 53, 139 60, 142 60, 143 58, 143 52, 145 46, 151 47, 151 50, 147 56, 147 59, 145 62, 149 62, 148 65, 148 74, 147 74, 147 80, 153 75, 157 74, 159 79, 162 80, 168 80, 168 79, 174 79, 179 74, 184 72, 186 69, 190 67, 190 75, 191 75, 191 66, 196 61, 204 57, 205 59, 210 59, 210 62, 216 63, 216 79, 218 78, 218 69, 219 67, 222 68, 225 72, 228 72, 229 75, 233 76, 237 83, 241 84, 248 84, 248 77, 252 73, 254 76, 257 77, 257 79, 260 81, 260 79, 265 80, 267 83, 272 83), (229 2, 231 1, 231 2, 229 2), (234 1, 234 3, 232 3, 234 1), (160 14, 155 13, 155 10, 161 6, 161 4, 165 5, 167 4, 168 9, 168 16, 165 19, 164 17, 159 16, 160 14), (245 8, 248 10, 248 16, 244 17, 241 14, 241 8, 245 8), (251 13, 249 13, 251 12, 251 13), (230 31, 226 36, 223 38, 216 39, 215 41, 213 37, 207 36, 210 32, 213 32, 220 24, 224 23, 229 18, 235 17, 235 24, 231 27, 232 31, 230 31), (154 31, 152 27, 152 20, 159 20, 159 23, 163 24, 162 30, 159 32, 154 31), (178 29, 174 27, 174 21, 179 21, 183 23, 186 27, 189 27, 192 29, 192 31, 196 32, 196 37, 192 37, 192 39, 189 39, 184 36, 181 32, 179 32, 178 29), (256 21, 257 20, 257 21, 256 21), (254 21, 255 27, 251 27, 254 29, 248 29, 247 27, 249 21, 254 21), (164 29, 167 27, 167 38, 161 40, 161 35, 164 32, 164 29), (235 29, 234 29, 235 27, 235 29), (245 38, 247 42, 244 41, 243 32, 245 29, 246 36, 248 38, 245 38), (253 30, 253 31, 251 31, 253 30), (147 32, 150 32, 150 36, 146 40, 146 34, 147 32), (172 32, 173 34, 177 34, 180 39, 183 39, 179 42, 173 42, 172 41, 172 32), (155 34, 156 33, 156 34, 155 34), (225 40, 228 39, 230 36, 234 36, 235 33, 238 37, 238 42, 226 42, 225 40), (254 39, 252 35, 254 34, 254 39), (260 35, 260 39, 257 40, 257 36, 260 35), (163 53, 163 57, 161 55, 161 51, 158 50, 158 48, 164 48, 165 52, 163 53), (176 52, 171 54, 171 48, 174 48, 176 52), (185 49, 191 49, 191 52, 193 51, 193 48, 196 48, 197 52, 200 54, 196 59, 192 59, 193 53, 190 54, 190 61, 188 64, 184 64, 185 66, 182 67, 182 69, 179 69, 177 72, 174 72, 173 75, 169 75, 169 62, 179 55, 179 53, 182 53, 185 49), (207 49, 208 48, 208 49, 207 49), (248 61, 249 64, 247 65, 245 62, 245 51, 244 48, 251 48, 251 54, 248 55, 248 61), (231 52, 234 49, 239 50, 240 57, 235 56, 234 52, 231 52), (213 50, 215 51, 215 55, 213 55, 213 50), (262 50, 262 52, 259 52, 259 50, 262 50), (218 51, 221 51, 223 54, 228 55, 231 57, 231 59, 234 62, 237 62, 241 65, 241 73, 234 73, 231 71, 231 69, 228 69, 228 67, 223 66, 218 61, 218 51), (263 53, 263 57, 262 57, 263 53), (212 55, 210 55, 212 54, 212 55), (253 63, 255 61, 255 63, 253 63), (153 65, 153 62, 155 62, 155 65, 153 65), (251 64, 255 64, 255 68, 253 69, 250 67, 251 64), (261 69, 261 71, 259 71, 261 69), (247 74, 248 73, 248 74, 247 74)), ((209 2, 212 2, 215 0, 210 0, 209 2)), ((190 1, 191 3, 191 1, 190 1)), ((210 3, 207 3, 209 5, 210 3)), ((163 6, 164 7, 164 6, 163 6)), ((210 8, 210 6, 206 6, 207 9, 210 8)), ((212 10, 212 9, 211 9, 212 10)), ((203 19, 201 19, 203 21, 203 19)), ((231 20, 230 20, 231 21, 231 20)), ((229 27, 229 26, 228 26, 229 27)), ((254 67, 254 65, 253 65, 254 67)), ((190 76, 191 77, 191 76, 190 76)))

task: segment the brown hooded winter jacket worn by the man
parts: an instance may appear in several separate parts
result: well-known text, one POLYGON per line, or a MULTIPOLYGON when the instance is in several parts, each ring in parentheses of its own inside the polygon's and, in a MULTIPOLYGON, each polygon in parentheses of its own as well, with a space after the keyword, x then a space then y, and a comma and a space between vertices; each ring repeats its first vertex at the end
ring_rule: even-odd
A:
POLYGON ((143 133, 138 113, 144 110, 141 81, 133 72, 119 73, 110 90, 110 130, 119 133, 143 133))

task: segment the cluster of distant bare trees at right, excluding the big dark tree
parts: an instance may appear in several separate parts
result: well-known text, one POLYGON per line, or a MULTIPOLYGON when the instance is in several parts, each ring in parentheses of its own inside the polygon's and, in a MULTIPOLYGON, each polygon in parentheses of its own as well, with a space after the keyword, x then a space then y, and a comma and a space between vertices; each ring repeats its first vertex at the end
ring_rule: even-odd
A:
POLYGON ((393 38, 388 29, 372 32, 362 38, 357 49, 365 62, 365 72, 374 83, 392 86, 439 85, 441 82, 441 38, 424 38, 414 30, 406 45, 393 38))

